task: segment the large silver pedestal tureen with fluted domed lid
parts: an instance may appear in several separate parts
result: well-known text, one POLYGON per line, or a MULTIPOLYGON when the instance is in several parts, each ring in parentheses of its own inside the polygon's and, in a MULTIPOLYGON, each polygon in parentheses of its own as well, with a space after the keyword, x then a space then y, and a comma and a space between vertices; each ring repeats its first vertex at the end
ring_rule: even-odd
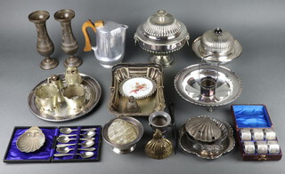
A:
POLYGON ((151 53, 151 62, 163 67, 169 67, 173 63, 172 53, 181 49, 188 40, 185 25, 163 10, 151 15, 134 34, 134 42, 151 53))

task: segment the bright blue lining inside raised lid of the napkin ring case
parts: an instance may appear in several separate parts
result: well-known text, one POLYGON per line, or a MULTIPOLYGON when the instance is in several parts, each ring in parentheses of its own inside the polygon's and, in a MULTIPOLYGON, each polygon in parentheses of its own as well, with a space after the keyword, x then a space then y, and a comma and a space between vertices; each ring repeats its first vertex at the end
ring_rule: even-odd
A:
POLYGON ((272 126, 265 106, 232 106, 238 128, 268 128, 272 126))

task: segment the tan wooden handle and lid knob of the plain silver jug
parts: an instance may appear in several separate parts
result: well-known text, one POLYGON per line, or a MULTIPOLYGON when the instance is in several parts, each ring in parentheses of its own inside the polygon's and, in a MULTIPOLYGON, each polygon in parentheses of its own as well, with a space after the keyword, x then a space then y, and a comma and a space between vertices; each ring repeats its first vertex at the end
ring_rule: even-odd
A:
POLYGON ((94 33, 96 33, 96 28, 102 27, 104 25, 103 20, 96 21, 95 24, 91 20, 87 20, 84 22, 82 25, 82 32, 85 37, 85 47, 84 51, 91 51, 92 50, 92 45, 91 45, 91 40, 90 36, 87 32, 87 28, 92 28, 94 30, 94 33))

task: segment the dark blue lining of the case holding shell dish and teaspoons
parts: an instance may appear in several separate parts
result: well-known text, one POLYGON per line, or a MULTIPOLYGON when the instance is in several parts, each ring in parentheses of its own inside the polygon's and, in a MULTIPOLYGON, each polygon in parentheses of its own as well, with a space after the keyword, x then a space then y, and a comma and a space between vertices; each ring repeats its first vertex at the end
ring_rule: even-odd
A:
MULTIPOLYGON (((45 134, 45 144, 42 146, 40 149, 38 149, 35 152, 31 153, 25 153, 25 152, 20 152, 20 150, 16 146, 17 139, 20 137, 21 134, 23 134, 26 130, 29 128, 16 128, 13 132, 12 135, 12 140, 11 144, 8 147, 5 159, 6 161, 47 161, 49 162, 50 159, 53 157, 53 154, 57 153, 55 151, 56 146, 53 148, 53 141, 54 138, 61 135, 59 129, 57 128, 40 128, 43 133, 45 134)), ((53 157, 53 161, 60 161, 60 160, 73 160, 73 159, 82 159, 81 156, 77 155, 80 153, 83 153, 85 151, 78 151, 77 148, 81 148, 81 146, 78 146, 77 143, 82 143, 83 141, 80 141, 80 134, 85 133, 85 131, 80 131, 81 127, 76 127, 74 129, 78 129, 74 134, 77 134, 76 137, 72 138, 77 138, 76 140, 70 140, 69 144, 75 143, 76 146, 69 146, 69 148, 74 148, 74 150, 69 151, 69 156, 62 156, 62 157, 53 157)), ((94 136, 94 146, 96 150, 94 151, 94 156, 91 158, 88 158, 88 160, 95 159, 97 160, 99 157, 99 147, 100 147, 100 141, 101 141, 101 126, 96 126, 95 130, 96 134, 94 136)), ((70 137, 71 138, 71 137, 70 137)), ((57 143, 57 142, 56 142, 57 143)))

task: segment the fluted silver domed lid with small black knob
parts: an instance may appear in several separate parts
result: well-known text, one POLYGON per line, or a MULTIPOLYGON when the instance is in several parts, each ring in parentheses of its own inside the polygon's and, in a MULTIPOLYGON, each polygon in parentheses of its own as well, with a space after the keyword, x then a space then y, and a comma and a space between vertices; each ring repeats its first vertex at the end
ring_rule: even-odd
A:
POLYGON ((221 28, 206 31, 200 40, 203 49, 218 53, 231 51, 233 44, 233 36, 221 28))

